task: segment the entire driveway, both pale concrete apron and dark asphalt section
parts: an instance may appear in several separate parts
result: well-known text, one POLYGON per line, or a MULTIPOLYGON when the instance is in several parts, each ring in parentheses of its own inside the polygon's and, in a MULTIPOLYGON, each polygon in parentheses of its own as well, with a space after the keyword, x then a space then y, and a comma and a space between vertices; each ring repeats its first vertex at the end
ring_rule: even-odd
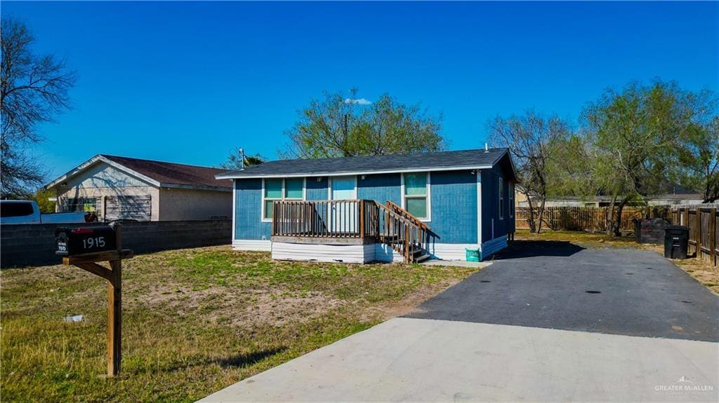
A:
POLYGON ((719 297, 654 252, 519 244, 202 402, 717 402, 719 297))

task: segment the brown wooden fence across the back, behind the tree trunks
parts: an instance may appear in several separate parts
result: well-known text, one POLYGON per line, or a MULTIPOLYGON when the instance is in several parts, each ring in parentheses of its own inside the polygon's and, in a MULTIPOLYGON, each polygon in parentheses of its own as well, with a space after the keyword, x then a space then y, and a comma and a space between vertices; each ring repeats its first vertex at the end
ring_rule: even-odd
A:
MULTIPOLYGON (((624 207, 622 210, 622 231, 633 231, 633 219, 664 217, 664 209, 646 209, 624 207)), ((535 219, 536 219, 536 209, 535 219)), ((606 207, 546 207, 542 216, 542 225, 549 229, 566 229, 568 231, 605 231, 606 207)), ((529 207, 516 207, 516 228, 529 229, 529 207)))

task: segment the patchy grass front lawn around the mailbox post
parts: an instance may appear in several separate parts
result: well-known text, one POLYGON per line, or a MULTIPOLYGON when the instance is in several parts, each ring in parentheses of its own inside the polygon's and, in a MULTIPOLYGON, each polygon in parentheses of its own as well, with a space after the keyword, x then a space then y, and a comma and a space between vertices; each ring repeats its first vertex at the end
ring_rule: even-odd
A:
POLYGON ((274 262, 209 247, 123 262, 122 374, 104 379, 106 285, 3 270, 4 402, 192 402, 380 321, 477 269, 274 262), (65 323, 65 316, 83 321, 65 323))

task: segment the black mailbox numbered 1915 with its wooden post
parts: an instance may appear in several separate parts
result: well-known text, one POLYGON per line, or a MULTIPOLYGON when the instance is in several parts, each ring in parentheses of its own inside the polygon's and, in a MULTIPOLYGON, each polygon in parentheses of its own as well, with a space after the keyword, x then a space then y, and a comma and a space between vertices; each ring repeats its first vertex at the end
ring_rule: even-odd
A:
POLYGON ((120 371, 122 361, 122 260, 134 256, 122 249, 122 224, 55 230, 63 265, 74 265, 107 280, 107 376, 120 371), (97 262, 109 262, 110 268, 97 262))

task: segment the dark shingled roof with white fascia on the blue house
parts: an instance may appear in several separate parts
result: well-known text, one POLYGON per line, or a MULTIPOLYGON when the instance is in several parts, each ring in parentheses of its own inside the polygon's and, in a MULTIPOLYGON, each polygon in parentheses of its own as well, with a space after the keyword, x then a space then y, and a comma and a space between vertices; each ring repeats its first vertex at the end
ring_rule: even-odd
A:
POLYGON ((292 176, 339 176, 349 174, 383 174, 413 171, 454 171, 458 169, 490 169, 502 158, 508 160, 513 178, 514 166, 507 148, 488 150, 436 151, 388 156, 356 156, 318 159, 269 161, 229 171, 217 179, 283 178, 292 176))

